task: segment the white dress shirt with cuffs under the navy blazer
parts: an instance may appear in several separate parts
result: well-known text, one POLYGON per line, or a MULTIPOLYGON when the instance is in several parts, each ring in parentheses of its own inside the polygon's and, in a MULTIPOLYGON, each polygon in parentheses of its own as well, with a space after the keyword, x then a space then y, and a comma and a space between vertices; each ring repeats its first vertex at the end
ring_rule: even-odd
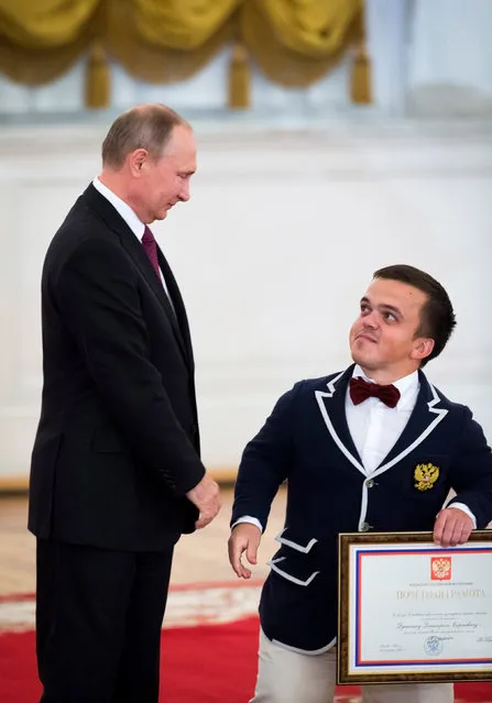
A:
MULTIPOLYGON (((356 364, 352 375, 374 383, 372 378, 368 378, 358 364, 356 364)), ((420 388, 418 371, 395 381, 393 385, 401 394, 394 408, 390 408, 382 400, 372 396, 359 405, 354 405, 350 397, 349 387, 347 388, 347 424, 367 475, 370 475, 382 463, 408 422, 420 388)), ((473 520, 473 527, 477 528, 477 519, 467 505, 453 503, 451 507, 460 508, 467 513, 473 520)), ((260 520, 250 515, 240 517, 232 527, 240 523, 251 523, 263 531, 260 520)))

